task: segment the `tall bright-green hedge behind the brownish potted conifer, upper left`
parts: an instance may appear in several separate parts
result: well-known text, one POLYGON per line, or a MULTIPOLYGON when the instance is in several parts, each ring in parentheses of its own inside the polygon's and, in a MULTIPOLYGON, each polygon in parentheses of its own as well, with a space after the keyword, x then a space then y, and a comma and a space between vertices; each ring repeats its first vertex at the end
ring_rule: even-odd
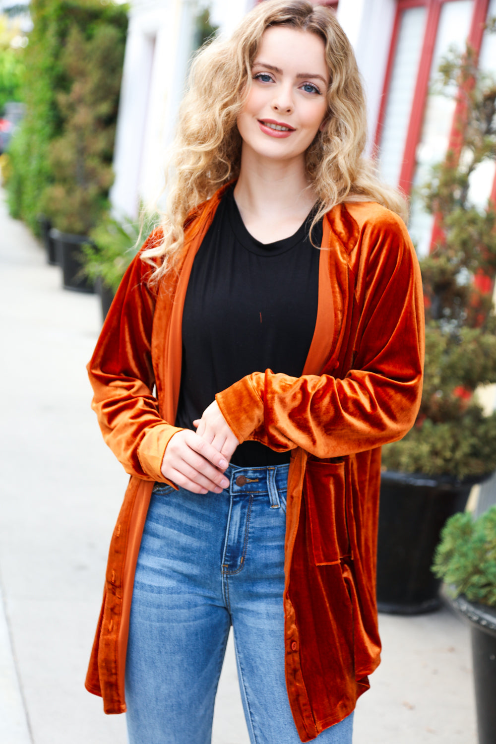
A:
MULTIPOLYGON (((22 85, 27 113, 9 148, 11 175, 7 197, 10 214, 24 219, 37 231, 36 217, 42 211, 46 189, 57 181, 51 144, 68 134, 70 117, 63 100, 74 89, 74 71, 68 68, 71 58, 68 41, 78 31, 89 43, 102 33, 103 27, 111 27, 117 44, 115 52, 120 57, 120 67, 117 65, 116 71, 113 64, 112 74, 117 74, 120 83, 127 7, 103 4, 100 0, 32 0, 30 13, 33 31, 25 49, 22 85)), ((117 101, 118 94, 106 112, 105 124, 112 140, 117 101)), ((90 127, 88 124, 88 129, 90 127)), ((106 147, 104 160, 106 165, 112 163, 112 147, 106 147)), ((108 190, 108 183, 105 190, 108 190)))

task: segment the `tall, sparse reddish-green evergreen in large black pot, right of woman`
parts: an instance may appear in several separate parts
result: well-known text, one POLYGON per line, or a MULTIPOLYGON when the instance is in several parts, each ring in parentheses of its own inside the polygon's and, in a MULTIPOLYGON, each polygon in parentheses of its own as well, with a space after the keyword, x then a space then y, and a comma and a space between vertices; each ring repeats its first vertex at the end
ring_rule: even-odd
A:
POLYGON ((441 89, 457 89, 457 143, 422 188, 436 218, 434 250, 420 261, 426 357, 422 404, 406 437, 383 451, 379 516, 379 609, 439 606, 429 571, 445 520, 465 507, 471 486, 496 467, 496 414, 481 385, 496 382, 496 212, 471 199, 471 176, 496 160, 496 83, 477 71, 470 48, 440 68, 441 89))

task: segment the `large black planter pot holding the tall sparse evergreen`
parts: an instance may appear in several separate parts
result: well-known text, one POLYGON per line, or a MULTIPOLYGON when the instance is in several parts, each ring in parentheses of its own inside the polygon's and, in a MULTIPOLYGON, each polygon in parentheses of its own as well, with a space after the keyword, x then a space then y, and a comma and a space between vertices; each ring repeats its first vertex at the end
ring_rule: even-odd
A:
MULTIPOLYGON (((431 572, 446 519, 463 511, 473 481, 448 476, 383 472, 377 550, 380 612, 417 615, 441 605, 440 580, 431 572)), ((493 743, 494 744, 494 743, 493 743)))

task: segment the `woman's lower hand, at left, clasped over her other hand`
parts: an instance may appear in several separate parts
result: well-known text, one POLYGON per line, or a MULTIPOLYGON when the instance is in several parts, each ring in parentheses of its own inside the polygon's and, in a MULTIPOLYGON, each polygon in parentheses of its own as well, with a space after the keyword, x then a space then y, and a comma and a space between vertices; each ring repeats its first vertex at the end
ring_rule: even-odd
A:
POLYGON ((224 471, 228 466, 215 447, 196 432, 181 429, 170 438, 162 460, 164 478, 193 493, 222 493, 229 485, 224 471))

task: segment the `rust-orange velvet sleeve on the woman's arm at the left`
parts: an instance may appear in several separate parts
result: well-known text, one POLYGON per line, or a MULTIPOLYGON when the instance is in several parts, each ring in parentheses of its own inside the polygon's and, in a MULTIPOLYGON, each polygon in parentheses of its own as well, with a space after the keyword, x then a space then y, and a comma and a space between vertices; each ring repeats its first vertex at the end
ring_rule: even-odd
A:
MULTIPOLYGON (((152 234, 142 250, 157 237, 152 234)), ((88 375, 94 391, 91 407, 117 460, 129 475, 169 483, 161 475, 161 463, 167 443, 180 429, 161 418, 152 392, 155 292, 147 283, 150 270, 140 254, 127 269, 88 363, 88 375)))

